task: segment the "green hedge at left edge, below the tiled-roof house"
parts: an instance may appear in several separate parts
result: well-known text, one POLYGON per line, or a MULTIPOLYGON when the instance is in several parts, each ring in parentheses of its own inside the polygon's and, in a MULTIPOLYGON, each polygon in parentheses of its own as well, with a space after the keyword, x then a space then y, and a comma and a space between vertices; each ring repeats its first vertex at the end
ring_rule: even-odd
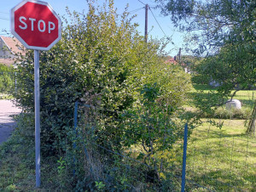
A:
POLYGON ((0 64, 0 93, 11 93, 15 88, 15 69, 0 64))

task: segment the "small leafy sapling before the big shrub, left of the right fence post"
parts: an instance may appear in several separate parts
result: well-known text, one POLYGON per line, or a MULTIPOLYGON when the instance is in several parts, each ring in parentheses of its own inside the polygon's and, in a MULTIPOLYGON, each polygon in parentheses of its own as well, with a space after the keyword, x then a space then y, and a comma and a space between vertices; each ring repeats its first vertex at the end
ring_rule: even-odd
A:
POLYGON ((156 183, 165 180, 161 172, 172 163, 172 147, 183 137, 184 125, 174 120, 177 108, 168 104, 166 99, 161 99, 163 95, 157 83, 146 84, 141 89, 140 102, 123 115, 124 146, 127 149, 135 146, 137 160, 154 167, 147 172, 156 183))

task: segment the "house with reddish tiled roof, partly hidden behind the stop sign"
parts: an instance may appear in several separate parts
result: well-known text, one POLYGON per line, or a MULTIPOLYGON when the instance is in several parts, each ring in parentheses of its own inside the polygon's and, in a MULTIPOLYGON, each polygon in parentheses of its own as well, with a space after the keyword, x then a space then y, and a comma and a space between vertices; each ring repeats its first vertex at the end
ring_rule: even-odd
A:
POLYGON ((0 36, 0 64, 14 65, 15 54, 26 54, 21 42, 15 37, 0 36))

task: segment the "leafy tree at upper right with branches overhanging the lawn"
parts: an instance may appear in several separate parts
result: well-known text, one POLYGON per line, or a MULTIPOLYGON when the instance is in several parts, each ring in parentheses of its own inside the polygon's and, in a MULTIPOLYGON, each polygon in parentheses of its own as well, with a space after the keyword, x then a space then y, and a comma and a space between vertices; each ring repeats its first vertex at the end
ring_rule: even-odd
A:
POLYGON ((234 96, 230 94, 232 89, 238 91, 255 85, 254 0, 156 2, 160 3, 164 14, 171 14, 173 23, 179 25, 181 30, 195 31, 191 35, 191 40, 199 44, 194 49, 195 54, 207 52, 198 70, 221 83, 218 93, 234 96))

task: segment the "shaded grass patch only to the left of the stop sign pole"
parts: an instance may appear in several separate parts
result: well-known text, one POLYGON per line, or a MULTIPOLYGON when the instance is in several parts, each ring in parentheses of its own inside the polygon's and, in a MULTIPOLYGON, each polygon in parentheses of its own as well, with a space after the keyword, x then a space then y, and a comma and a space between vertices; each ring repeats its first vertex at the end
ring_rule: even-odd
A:
POLYGON ((34 191, 32 144, 11 138, 0 145, 0 191, 34 191))

